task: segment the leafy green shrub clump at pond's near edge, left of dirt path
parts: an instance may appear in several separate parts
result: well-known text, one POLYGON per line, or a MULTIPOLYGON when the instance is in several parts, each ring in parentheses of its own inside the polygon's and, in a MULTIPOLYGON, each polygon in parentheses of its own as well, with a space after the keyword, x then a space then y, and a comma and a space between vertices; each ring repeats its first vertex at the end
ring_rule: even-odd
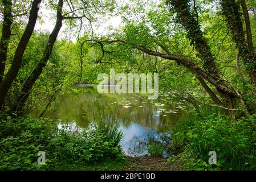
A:
POLYGON ((60 163, 75 161, 92 164, 108 159, 119 159, 122 156, 120 140, 115 140, 110 134, 102 128, 93 129, 88 133, 83 131, 80 134, 61 130, 51 140, 48 151, 51 151, 60 163))

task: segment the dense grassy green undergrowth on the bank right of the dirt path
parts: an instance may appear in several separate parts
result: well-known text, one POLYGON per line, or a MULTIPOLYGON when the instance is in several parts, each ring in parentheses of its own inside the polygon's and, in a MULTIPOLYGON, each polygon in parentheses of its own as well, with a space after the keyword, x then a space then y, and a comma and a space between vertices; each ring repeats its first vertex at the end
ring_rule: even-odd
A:
POLYGON ((181 161, 187 170, 255 170, 256 115, 235 121, 205 110, 176 123, 170 146, 176 155, 168 160, 181 161), (217 153, 216 165, 208 163, 210 151, 217 153))

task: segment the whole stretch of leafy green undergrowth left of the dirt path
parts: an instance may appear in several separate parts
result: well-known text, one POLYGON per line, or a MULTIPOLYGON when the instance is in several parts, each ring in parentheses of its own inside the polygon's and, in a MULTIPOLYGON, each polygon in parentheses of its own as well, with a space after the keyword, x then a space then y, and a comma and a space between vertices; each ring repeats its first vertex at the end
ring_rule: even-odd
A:
POLYGON ((3 116, 0 127, 1 170, 110 170, 126 161, 117 127, 71 133, 51 119, 3 116), (46 152, 46 164, 38 164, 39 151, 46 152))

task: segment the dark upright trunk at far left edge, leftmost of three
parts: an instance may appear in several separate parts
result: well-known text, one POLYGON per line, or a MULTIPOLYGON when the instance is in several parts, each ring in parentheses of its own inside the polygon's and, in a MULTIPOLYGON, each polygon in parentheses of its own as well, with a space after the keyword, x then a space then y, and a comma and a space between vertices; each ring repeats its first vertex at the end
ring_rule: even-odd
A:
POLYGON ((9 40, 11 38, 11 24, 13 23, 12 2, 11 0, 3 0, 3 27, 0 40, 0 84, 5 73, 5 64, 7 59, 7 51, 9 40))

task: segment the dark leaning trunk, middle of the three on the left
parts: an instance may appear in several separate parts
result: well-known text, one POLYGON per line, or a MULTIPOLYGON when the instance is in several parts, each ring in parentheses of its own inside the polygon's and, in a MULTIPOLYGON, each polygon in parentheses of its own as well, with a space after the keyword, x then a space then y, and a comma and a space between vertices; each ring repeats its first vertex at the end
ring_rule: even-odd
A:
POLYGON ((5 101, 6 94, 10 89, 10 86, 13 83, 14 78, 17 76, 19 69, 21 68, 22 59, 23 59, 25 49, 27 47, 27 43, 29 43, 32 32, 34 31, 34 28, 35 28, 36 19, 38 18, 38 10, 39 10, 41 1, 42 0, 34 0, 32 2, 29 22, 27 23, 27 27, 15 51, 13 63, 11 64, 9 71, 7 72, 6 76, 3 78, 0 84, 0 107, 3 106, 3 102, 5 101))

